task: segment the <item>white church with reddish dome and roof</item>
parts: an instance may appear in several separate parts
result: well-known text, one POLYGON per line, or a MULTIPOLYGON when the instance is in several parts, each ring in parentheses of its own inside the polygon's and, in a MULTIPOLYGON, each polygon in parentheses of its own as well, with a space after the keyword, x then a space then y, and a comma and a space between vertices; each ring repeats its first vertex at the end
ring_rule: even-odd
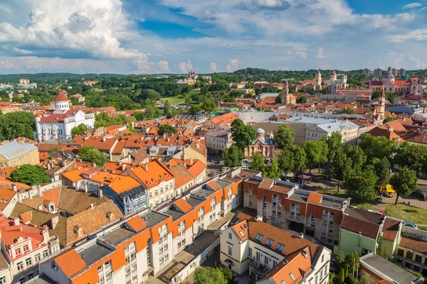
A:
POLYGON ((70 109, 65 92, 60 92, 55 98, 55 109, 47 110, 43 116, 36 116, 37 140, 71 139, 71 129, 85 124, 93 129, 95 114, 85 114, 79 109, 70 109))

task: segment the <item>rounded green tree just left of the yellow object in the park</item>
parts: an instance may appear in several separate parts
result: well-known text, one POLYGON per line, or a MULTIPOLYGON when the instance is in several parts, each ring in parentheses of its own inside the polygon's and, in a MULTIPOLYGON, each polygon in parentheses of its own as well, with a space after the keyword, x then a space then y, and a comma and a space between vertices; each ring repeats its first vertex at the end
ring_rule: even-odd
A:
POLYGON ((347 195, 357 202, 371 202, 376 198, 376 182, 374 168, 369 165, 361 172, 354 172, 344 183, 347 195))

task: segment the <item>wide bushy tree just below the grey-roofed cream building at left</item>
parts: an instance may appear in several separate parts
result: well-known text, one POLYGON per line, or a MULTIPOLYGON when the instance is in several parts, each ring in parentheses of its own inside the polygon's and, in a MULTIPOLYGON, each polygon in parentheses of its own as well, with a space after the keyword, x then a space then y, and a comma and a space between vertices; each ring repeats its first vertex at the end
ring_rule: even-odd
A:
POLYGON ((25 185, 41 185, 51 182, 51 177, 45 173, 40 165, 21 165, 12 171, 11 179, 25 185))

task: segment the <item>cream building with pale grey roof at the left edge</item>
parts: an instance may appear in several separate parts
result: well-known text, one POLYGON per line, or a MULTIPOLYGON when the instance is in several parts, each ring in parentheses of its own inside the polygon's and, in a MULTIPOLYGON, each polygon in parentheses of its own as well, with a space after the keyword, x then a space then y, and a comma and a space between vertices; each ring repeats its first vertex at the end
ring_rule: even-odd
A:
POLYGON ((0 168, 16 167, 19 165, 36 165, 40 163, 38 148, 24 139, 16 139, 0 144, 0 168))

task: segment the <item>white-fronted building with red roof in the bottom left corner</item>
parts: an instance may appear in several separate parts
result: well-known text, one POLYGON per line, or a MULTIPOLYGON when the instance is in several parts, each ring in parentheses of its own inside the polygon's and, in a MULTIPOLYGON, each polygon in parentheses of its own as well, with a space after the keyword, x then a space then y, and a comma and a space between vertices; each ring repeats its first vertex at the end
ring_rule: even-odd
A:
POLYGON ((0 216, 0 263, 6 261, 9 269, 0 274, 0 283, 24 283, 38 275, 38 262, 59 251, 58 236, 50 235, 48 226, 29 224, 30 213, 21 218, 0 216))

